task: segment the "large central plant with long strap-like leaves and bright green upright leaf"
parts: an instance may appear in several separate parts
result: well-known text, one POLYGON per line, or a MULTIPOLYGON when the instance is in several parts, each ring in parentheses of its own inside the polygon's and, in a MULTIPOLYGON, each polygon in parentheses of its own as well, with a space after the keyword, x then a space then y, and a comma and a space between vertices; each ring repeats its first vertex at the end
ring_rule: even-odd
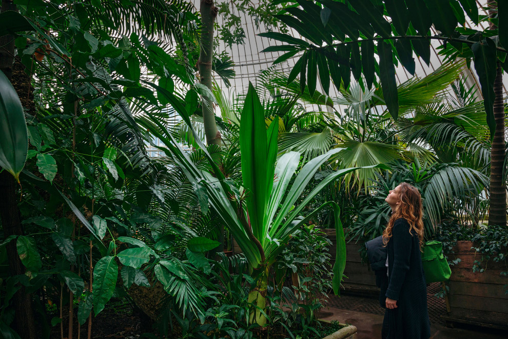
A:
MULTIPOLYGON (((192 126, 179 100, 167 91, 161 90, 161 93, 180 112, 189 127, 192 126)), ((256 322, 259 325, 263 326, 266 323, 264 309, 270 267, 283 250, 284 244, 288 242, 289 236, 325 207, 331 207, 335 216, 338 241, 336 263, 333 268, 333 288, 334 293, 339 294, 346 259, 339 206, 334 201, 328 201, 305 217, 301 217, 300 213, 328 183, 360 167, 344 168, 331 173, 298 206, 295 206, 295 203, 320 166, 331 155, 340 152, 341 148, 332 149, 308 161, 286 194, 289 182, 297 171, 301 154, 289 152, 277 160, 278 124, 270 124, 270 127, 266 128, 263 106, 255 89, 250 85, 240 124, 243 186, 237 188, 221 173, 200 138, 196 138, 196 141, 201 143, 200 147, 209 160, 213 175, 200 170, 191 161, 189 155, 182 150, 162 123, 157 119, 153 119, 153 122, 157 125, 157 129, 152 128, 153 125, 150 124, 144 127, 159 138, 165 147, 154 146, 171 157, 191 182, 206 187, 211 207, 222 217, 243 250, 250 267, 261 272, 257 287, 249 294, 249 301, 257 306, 256 322)), ((192 130, 196 133, 193 128, 192 130)))

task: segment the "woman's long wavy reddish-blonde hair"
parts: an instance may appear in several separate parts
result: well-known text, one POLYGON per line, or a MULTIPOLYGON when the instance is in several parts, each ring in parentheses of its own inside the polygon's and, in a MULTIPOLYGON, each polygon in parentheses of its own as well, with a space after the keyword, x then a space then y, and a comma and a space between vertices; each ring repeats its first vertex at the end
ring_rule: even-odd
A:
POLYGON ((392 217, 390 217, 388 225, 383 232, 383 244, 386 246, 392 237, 395 220, 404 218, 407 220, 409 225, 411 225, 408 232, 411 233, 412 230, 415 230, 416 234, 418 234, 421 250, 423 248, 422 196, 415 186, 410 185, 407 182, 402 182, 400 184, 399 200, 399 204, 395 208, 395 211, 393 211, 392 217))

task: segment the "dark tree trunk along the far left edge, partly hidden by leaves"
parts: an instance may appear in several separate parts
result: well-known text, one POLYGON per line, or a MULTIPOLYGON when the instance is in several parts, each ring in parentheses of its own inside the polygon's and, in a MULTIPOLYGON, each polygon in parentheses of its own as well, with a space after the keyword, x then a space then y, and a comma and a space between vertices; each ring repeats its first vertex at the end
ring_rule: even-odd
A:
MULTIPOLYGON (((2 12, 8 10, 17 10, 12 1, 2 0, 2 12)), ((14 61, 14 36, 7 34, 0 37, 0 70, 5 76, 12 80, 12 68, 14 61)), ((11 81, 12 82, 12 81, 11 81)), ((15 84, 13 84, 14 86, 15 84)), ((16 91, 18 86, 14 86, 16 91)), ((0 218, 4 229, 4 237, 10 235, 23 235, 23 226, 21 224, 21 215, 17 203, 19 201, 17 182, 7 171, 0 173, 0 218)), ((25 274, 25 267, 17 254, 16 241, 11 241, 7 245, 7 259, 11 275, 25 274)), ((14 330, 22 339, 35 339, 35 323, 33 321, 32 299, 31 295, 26 293, 25 286, 21 288, 12 297, 15 317, 13 322, 14 330)))

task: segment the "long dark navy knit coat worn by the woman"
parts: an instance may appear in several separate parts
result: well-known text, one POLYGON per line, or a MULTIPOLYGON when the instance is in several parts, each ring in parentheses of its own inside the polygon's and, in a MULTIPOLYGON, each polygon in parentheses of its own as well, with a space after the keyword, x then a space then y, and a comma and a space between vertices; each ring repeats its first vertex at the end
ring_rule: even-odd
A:
POLYGON ((397 308, 386 309, 383 339, 428 339, 431 327, 427 310, 427 287, 423 272, 420 240, 409 223, 397 219, 388 241, 388 277, 381 283, 380 302, 397 300, 397 308))

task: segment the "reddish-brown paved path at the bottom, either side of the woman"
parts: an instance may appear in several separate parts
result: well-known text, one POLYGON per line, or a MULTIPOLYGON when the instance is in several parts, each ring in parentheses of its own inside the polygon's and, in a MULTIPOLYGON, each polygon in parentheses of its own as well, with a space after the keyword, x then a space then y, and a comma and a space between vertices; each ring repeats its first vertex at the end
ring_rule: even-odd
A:
MULTIPOLYGON (((320 318, 326 321, 339 321, 355 325, 358 328, 358 339, 381 339, 383 316, 372 313, 343 310, 326 307, 320 318)), ((431 339, 506 339, 506 332, 473 326, 446 328, 442 324, 431 324, 431 339)))

